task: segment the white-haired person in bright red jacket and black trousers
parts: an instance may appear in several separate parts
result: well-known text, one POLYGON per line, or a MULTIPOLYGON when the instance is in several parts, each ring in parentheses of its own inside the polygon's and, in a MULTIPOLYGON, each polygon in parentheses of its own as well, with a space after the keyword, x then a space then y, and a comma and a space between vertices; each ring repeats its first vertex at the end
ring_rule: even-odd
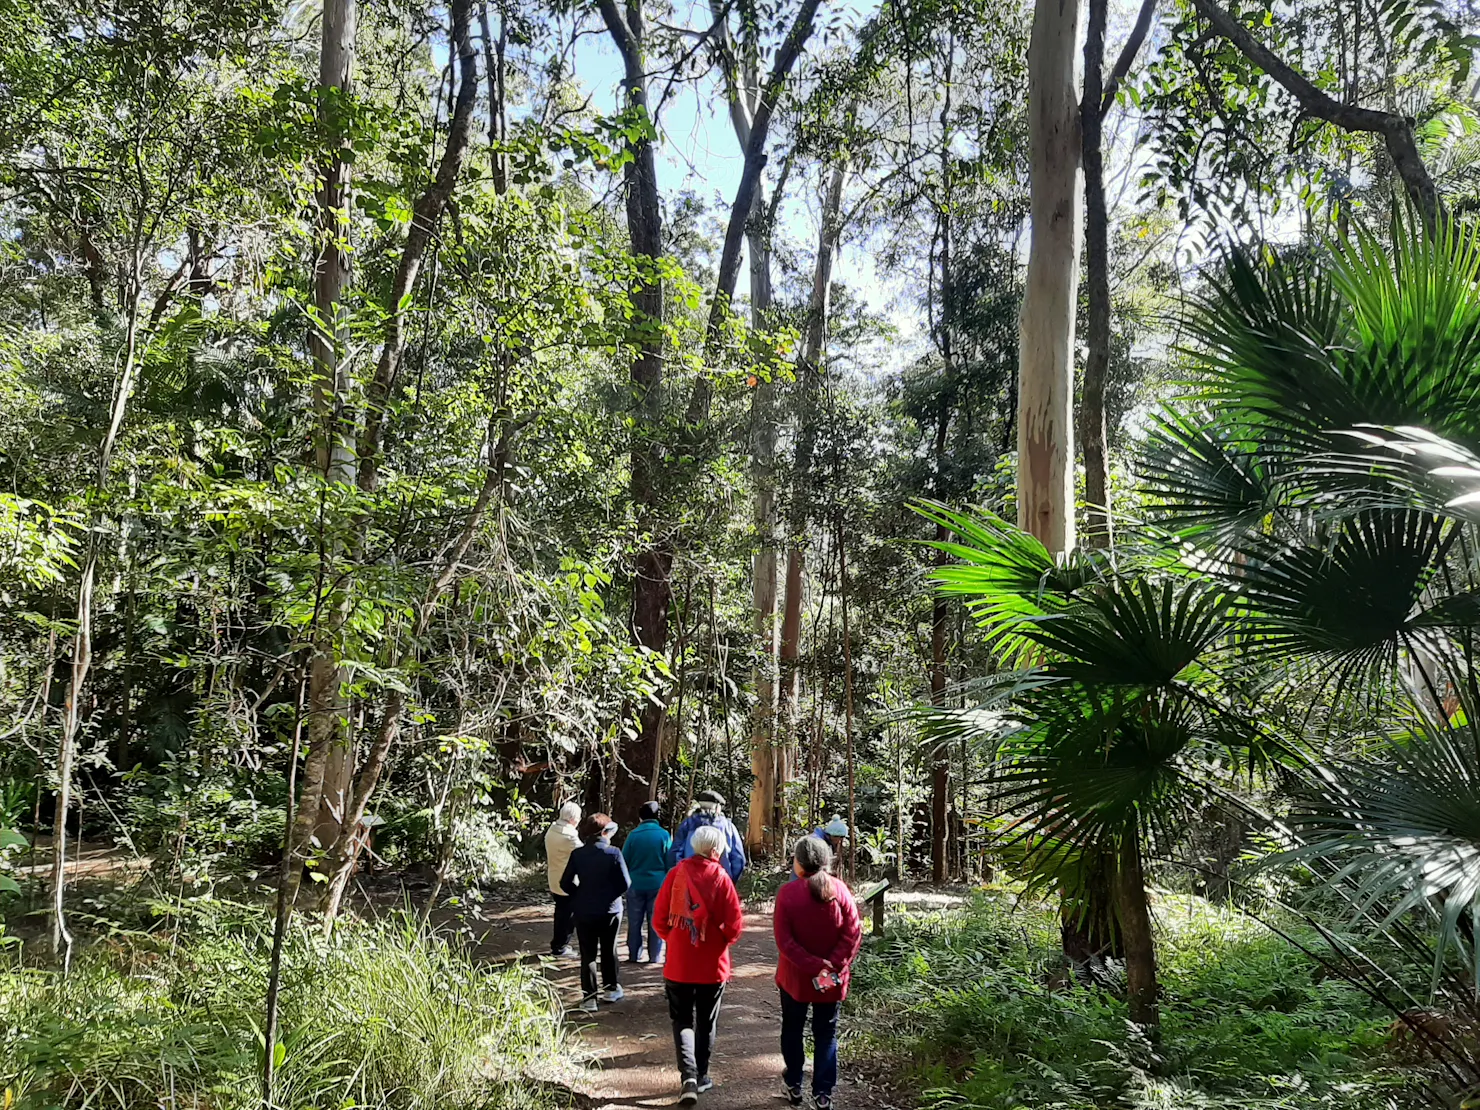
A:
POLYGON ((715 1085, 709 1077, 709 1054, 730 978, 730 946, 744 926, 740 895, 719 863, 724 830, 703 824, 688 845, 694 854, 667 873, 653 909, 657 935, 667 943, 663 986, 673 1021, 682 1106, 693 1106, 715 1085))

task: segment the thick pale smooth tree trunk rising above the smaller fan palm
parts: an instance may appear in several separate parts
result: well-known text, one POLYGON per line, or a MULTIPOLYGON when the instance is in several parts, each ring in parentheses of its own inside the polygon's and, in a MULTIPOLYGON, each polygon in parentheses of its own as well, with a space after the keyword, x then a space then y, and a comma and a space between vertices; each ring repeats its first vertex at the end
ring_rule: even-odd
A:
POLYGON ((1018 321, 1018 525, 1074 546, 1074 308, 1079 283, 1079 0, 1037 0, 1029 68, 1033 232, 1018 321))

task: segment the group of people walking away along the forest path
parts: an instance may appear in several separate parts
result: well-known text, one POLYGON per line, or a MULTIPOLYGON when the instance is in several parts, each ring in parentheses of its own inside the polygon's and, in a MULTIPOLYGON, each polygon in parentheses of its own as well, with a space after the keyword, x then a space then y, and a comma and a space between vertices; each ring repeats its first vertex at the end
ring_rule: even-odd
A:
MULTIPOLYGON (((724 814, 725 799, 699 795, 673 830, 662 827, 657 802, 639 811, 639 824, 622 850, 607 814, 585 820, 567 804, 545 835, 555 932, 551 952, 580 946, 580 1008, 620 1002, 617 934, 628 909, 628 961, 663 968, 679 1103, 691 1106, 713 1086, 709 1061, 719 1006, 731 975, 730 949, 744 928, 736 879, 746 867, 744 842, 724 814), (645 956, 645 961, 644 961, 645 956)), ((805 1030, 813 1024, 813 1103, 832 1107, 838 1083, 838 1009, 858 955, 858 907, 847 884, 832 875, 833 845, 848 835, 833 820, 792 848, 792 876, 776 897, 776 984, 781 1002, 781 1082, 787 1101, 802 1104, 805 1030)))

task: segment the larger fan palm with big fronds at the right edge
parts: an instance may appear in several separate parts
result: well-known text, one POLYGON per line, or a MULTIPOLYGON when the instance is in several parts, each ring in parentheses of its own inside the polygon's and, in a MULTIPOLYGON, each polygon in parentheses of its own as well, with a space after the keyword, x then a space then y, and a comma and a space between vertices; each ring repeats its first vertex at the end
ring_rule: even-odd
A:
POLYGON ((1400 722, 1314 768, 1296 855, 1354 913, 1428 915, 1436 989, 1456 952, 1480 984, 1480 237, 1239 255, 1191 330, 1205 407, 1157 422, 1153 519, 1233 593, 1249 659, 1400 722))

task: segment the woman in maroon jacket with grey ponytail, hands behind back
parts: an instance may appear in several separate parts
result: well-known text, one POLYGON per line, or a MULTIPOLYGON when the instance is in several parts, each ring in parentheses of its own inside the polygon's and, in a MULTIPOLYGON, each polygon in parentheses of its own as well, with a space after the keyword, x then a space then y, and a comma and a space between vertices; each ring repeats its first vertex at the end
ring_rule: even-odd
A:
POLYGON ((776 986, 781 989, 781 1058, 786 1097, 802 1104, 802 1033, 813 1011, 813 1104, 830 1110, 838 1085, 838 1008, 848 996, 848 971, 863 931, 848 887, 827 873, 832 848, 804 836, 792 850, 792 870, 776 895, 776 986))

